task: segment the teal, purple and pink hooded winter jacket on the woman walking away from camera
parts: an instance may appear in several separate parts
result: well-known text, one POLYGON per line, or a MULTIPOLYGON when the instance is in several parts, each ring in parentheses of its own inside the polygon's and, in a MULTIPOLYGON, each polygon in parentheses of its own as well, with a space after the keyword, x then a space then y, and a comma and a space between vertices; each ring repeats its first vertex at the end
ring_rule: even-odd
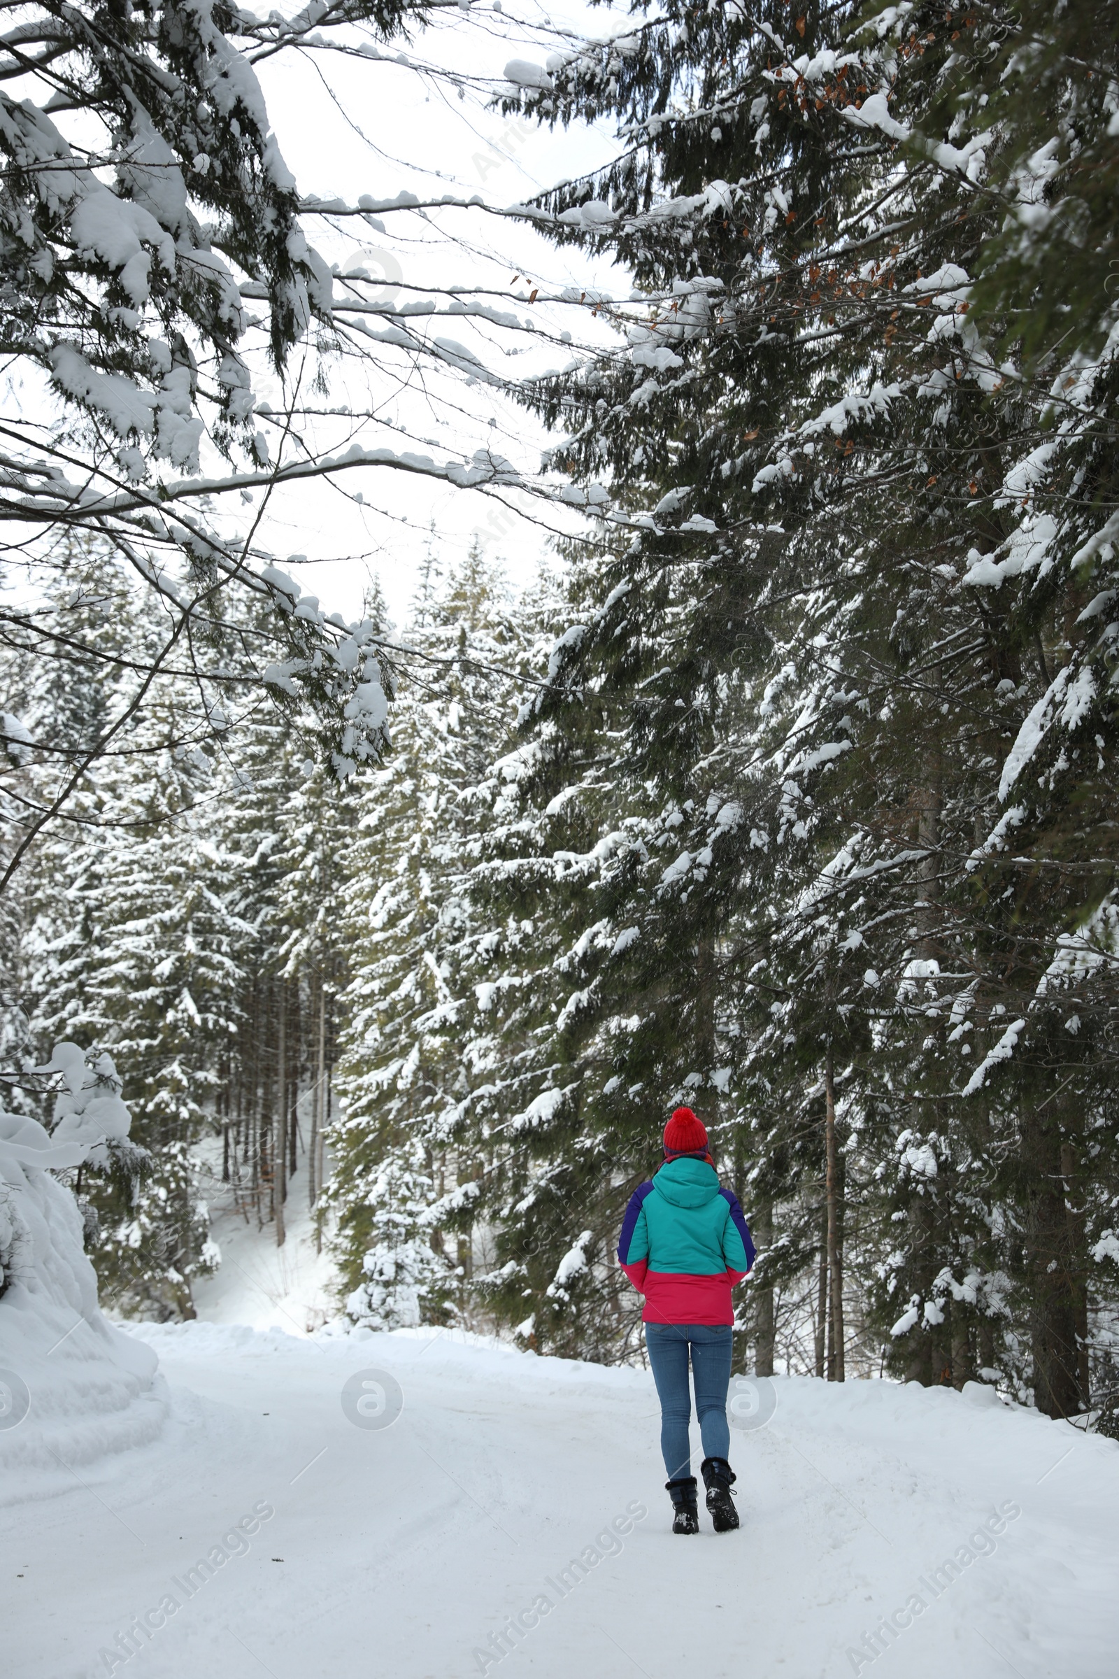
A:
POLYGON ((742 1207, 708 1160, 678 1155, 632 1192, 617 1261, 644 1295, 644 1323, 733 1323, 730 1291, 753 1258, 742 1207))

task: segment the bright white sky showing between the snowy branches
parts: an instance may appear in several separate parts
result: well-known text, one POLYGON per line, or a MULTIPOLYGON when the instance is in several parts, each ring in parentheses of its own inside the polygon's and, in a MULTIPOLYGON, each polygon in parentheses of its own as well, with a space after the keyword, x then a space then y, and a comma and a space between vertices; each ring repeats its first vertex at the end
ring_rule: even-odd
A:
MULTIPOLYGON (((544 17, 532 10, 528 15, 544 17)), ((557 17, 552 13, 554 20, 557 17)), ((569 8, 560 18, 569 27, 597 34, 616 34, 622 20, 622 13, 607 8, 569 8)), ((510 57, 542 62, 547 52, 547 45, 532 42, 528 32, 505 17, 480 17, 478 12, 468 17, 441 13, 431 30, 411 45, 401 45, 414 59, 495 79, 500 79, 510 57)), ((356 203, 362 193, 376 200, 394 198, 399 191, 421 198, 480 193, 487 203, 508 205, 599 166, 617 151, 606 128, 550 134, 520 119, 510 123, 488 111, 476 94, 466 91, 460 101, 453 87, 433 84, 429 77, 386 60, 357 60, 332 52, 290 54, 260 65, 258 74, 284 158, 305 196, 315 193, 356 203)), ((393 262, 399 264, 403 299, 411 296, 409 284, 480 284, 505 290, 510 301, 520 296, 517 312, 533 321, 542 317, 539 309, 525 307, 532 287, 554 292, 575 285, 612 296, 626 296, 629 289, 626 274, 616 269, 596 272, 580 252, 557 250, 530 227, 480 212, 393 213, 384 217, 384 235, 379 235, 357 220, 337 228, 314 220, 307 223, 307 237, 327 260, 342 265, 359 247, 379 247, 389 259, 389 272, 393 262), (517 284, 510 284, 513 275, 520 275, 517 284)), ((366 265, 371 272, 377 270, 379 260, 369 257, 366 265)), ((386 264, 381 262, 381 267, 386 264)), ((508 307, 508 302, 500 306, 508 307)), ((560 314, 555 311, 552 316, 555 331, 567 327, 586 339, 586 311, 567 311, 569 319, 560 319, 560 314)), ((458 322, 443 321, 440 331, 478 346, 468 324, 460 329, 458 322), (448 332, 448 327, 453 331, 448 332)), ((520 339, 507 336, 505 348, 498 346, 497 353, 492 348, 487 359, 518 376, 560 366, 565 353, 542 349, 523 334, 520 339)), ((533 418, 500 393, 485 386, 466 388, 461 378, 429 379, 416 374, 403 358, 396 371, 384 364, 384 371, 372 368, 371 376, 341 369, 329 401, 377 408, 384 421, 384 430, 376 423, 361 430, 346 423, 339 433, 344 445, 359 440, 362 445, 414 448, 409 437, 391 430, 401 426, 411 438, 426 440, 426 452, 435 460, 448 458, 456 450, 471 453, 492 447, 518 467, 535 470, 540 447, 547 442, 533 418), (448 406, 448 400, 458 408, 448 406)), ((278 391, 275 405, 280 406, 278 391)), ((539 509, 535 512, 539 515, 539 509)), ((247 507, 245 520, 253 515, 255 509, 247 507)), ((393 616, 404 623, 431 520, 445 564, 453 564, 478 532, 488 554, 503 559, 513 584, 527 583, 547 552, 547 537, 539 524, 503 514, 490 499, 372 467, 346 473, 342 490, 317 482, 285 492, 268 505, 257 539, 273 549, 280 564, 289 564, 292 554, 307 556, 305 564, 294 562, 289 569, 320 598, 327 611, 357 613, 362 588, 369 574, 377 573, 393 616), (361 492, 361 505, 354 492, 361 492)))

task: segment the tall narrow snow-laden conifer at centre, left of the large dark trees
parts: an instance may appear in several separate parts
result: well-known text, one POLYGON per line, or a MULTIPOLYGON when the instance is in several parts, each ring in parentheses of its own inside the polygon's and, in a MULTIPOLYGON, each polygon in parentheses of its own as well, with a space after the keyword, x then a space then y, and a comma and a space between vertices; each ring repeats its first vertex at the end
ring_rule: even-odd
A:
POLYGON ((508 737, 527 628, 475 542, 433 603, 393 715, 393 754, 366 777, 349 851, 352 979, 330 1133, 347 1311, 374 1326, 463 1310, 480 1160, 460 1148, 463 1103, 487 1064, 490 934, 468 893, 492 819, 492 762, 508 737), (456 1234, 455 1234, 456 1232, 456 1234))

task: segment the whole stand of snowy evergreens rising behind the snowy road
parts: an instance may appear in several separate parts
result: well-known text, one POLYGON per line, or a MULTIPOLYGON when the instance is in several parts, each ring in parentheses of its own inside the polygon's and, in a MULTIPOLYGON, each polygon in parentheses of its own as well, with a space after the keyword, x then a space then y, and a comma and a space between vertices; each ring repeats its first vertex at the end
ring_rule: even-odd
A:
MULTIPOLYGON (((589 304, 616 343, 522 388, 599 510, 565 598, 433 542, 341 799, 250 712, 210 823, 156 702, 158 774, 82 794, 128 838, 57 851, 5 937, 44 1029, 136 1063, 136 1135, 225 1128, 278 1237, 315 1091, 356 1321, 636 1355, 617 1222, 688 1101, 762 1251, 740 1365, 1111 1415, 1119 34, 797 10, 638 5, 505 96, 622 139, 523 207, 634 275, 589 304)), ((84 646, 102 606, 65 611, 84 646)))

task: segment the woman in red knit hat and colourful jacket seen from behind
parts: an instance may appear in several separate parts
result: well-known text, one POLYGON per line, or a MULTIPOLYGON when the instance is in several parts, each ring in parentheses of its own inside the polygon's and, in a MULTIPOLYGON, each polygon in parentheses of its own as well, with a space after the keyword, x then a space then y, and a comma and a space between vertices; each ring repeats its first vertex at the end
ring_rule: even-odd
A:
POLYGON ((708 1133, 691 1108, 676 1108, 664 1127, 664 1165, 634 1190, 617 1259, 644 1295, 644 1340, 661 1400, 661 1452, 676 1516, 673 1533, 698 1533, 696 1479, 688 1424, 688 1352, 703 1439, 703 1484, 716 1533, 738 1526, 736 1479, 726 1461, 730 1383, 730 1291, 753 1264, 755 1247, 735 1195, 720 1189, 708 1133))

